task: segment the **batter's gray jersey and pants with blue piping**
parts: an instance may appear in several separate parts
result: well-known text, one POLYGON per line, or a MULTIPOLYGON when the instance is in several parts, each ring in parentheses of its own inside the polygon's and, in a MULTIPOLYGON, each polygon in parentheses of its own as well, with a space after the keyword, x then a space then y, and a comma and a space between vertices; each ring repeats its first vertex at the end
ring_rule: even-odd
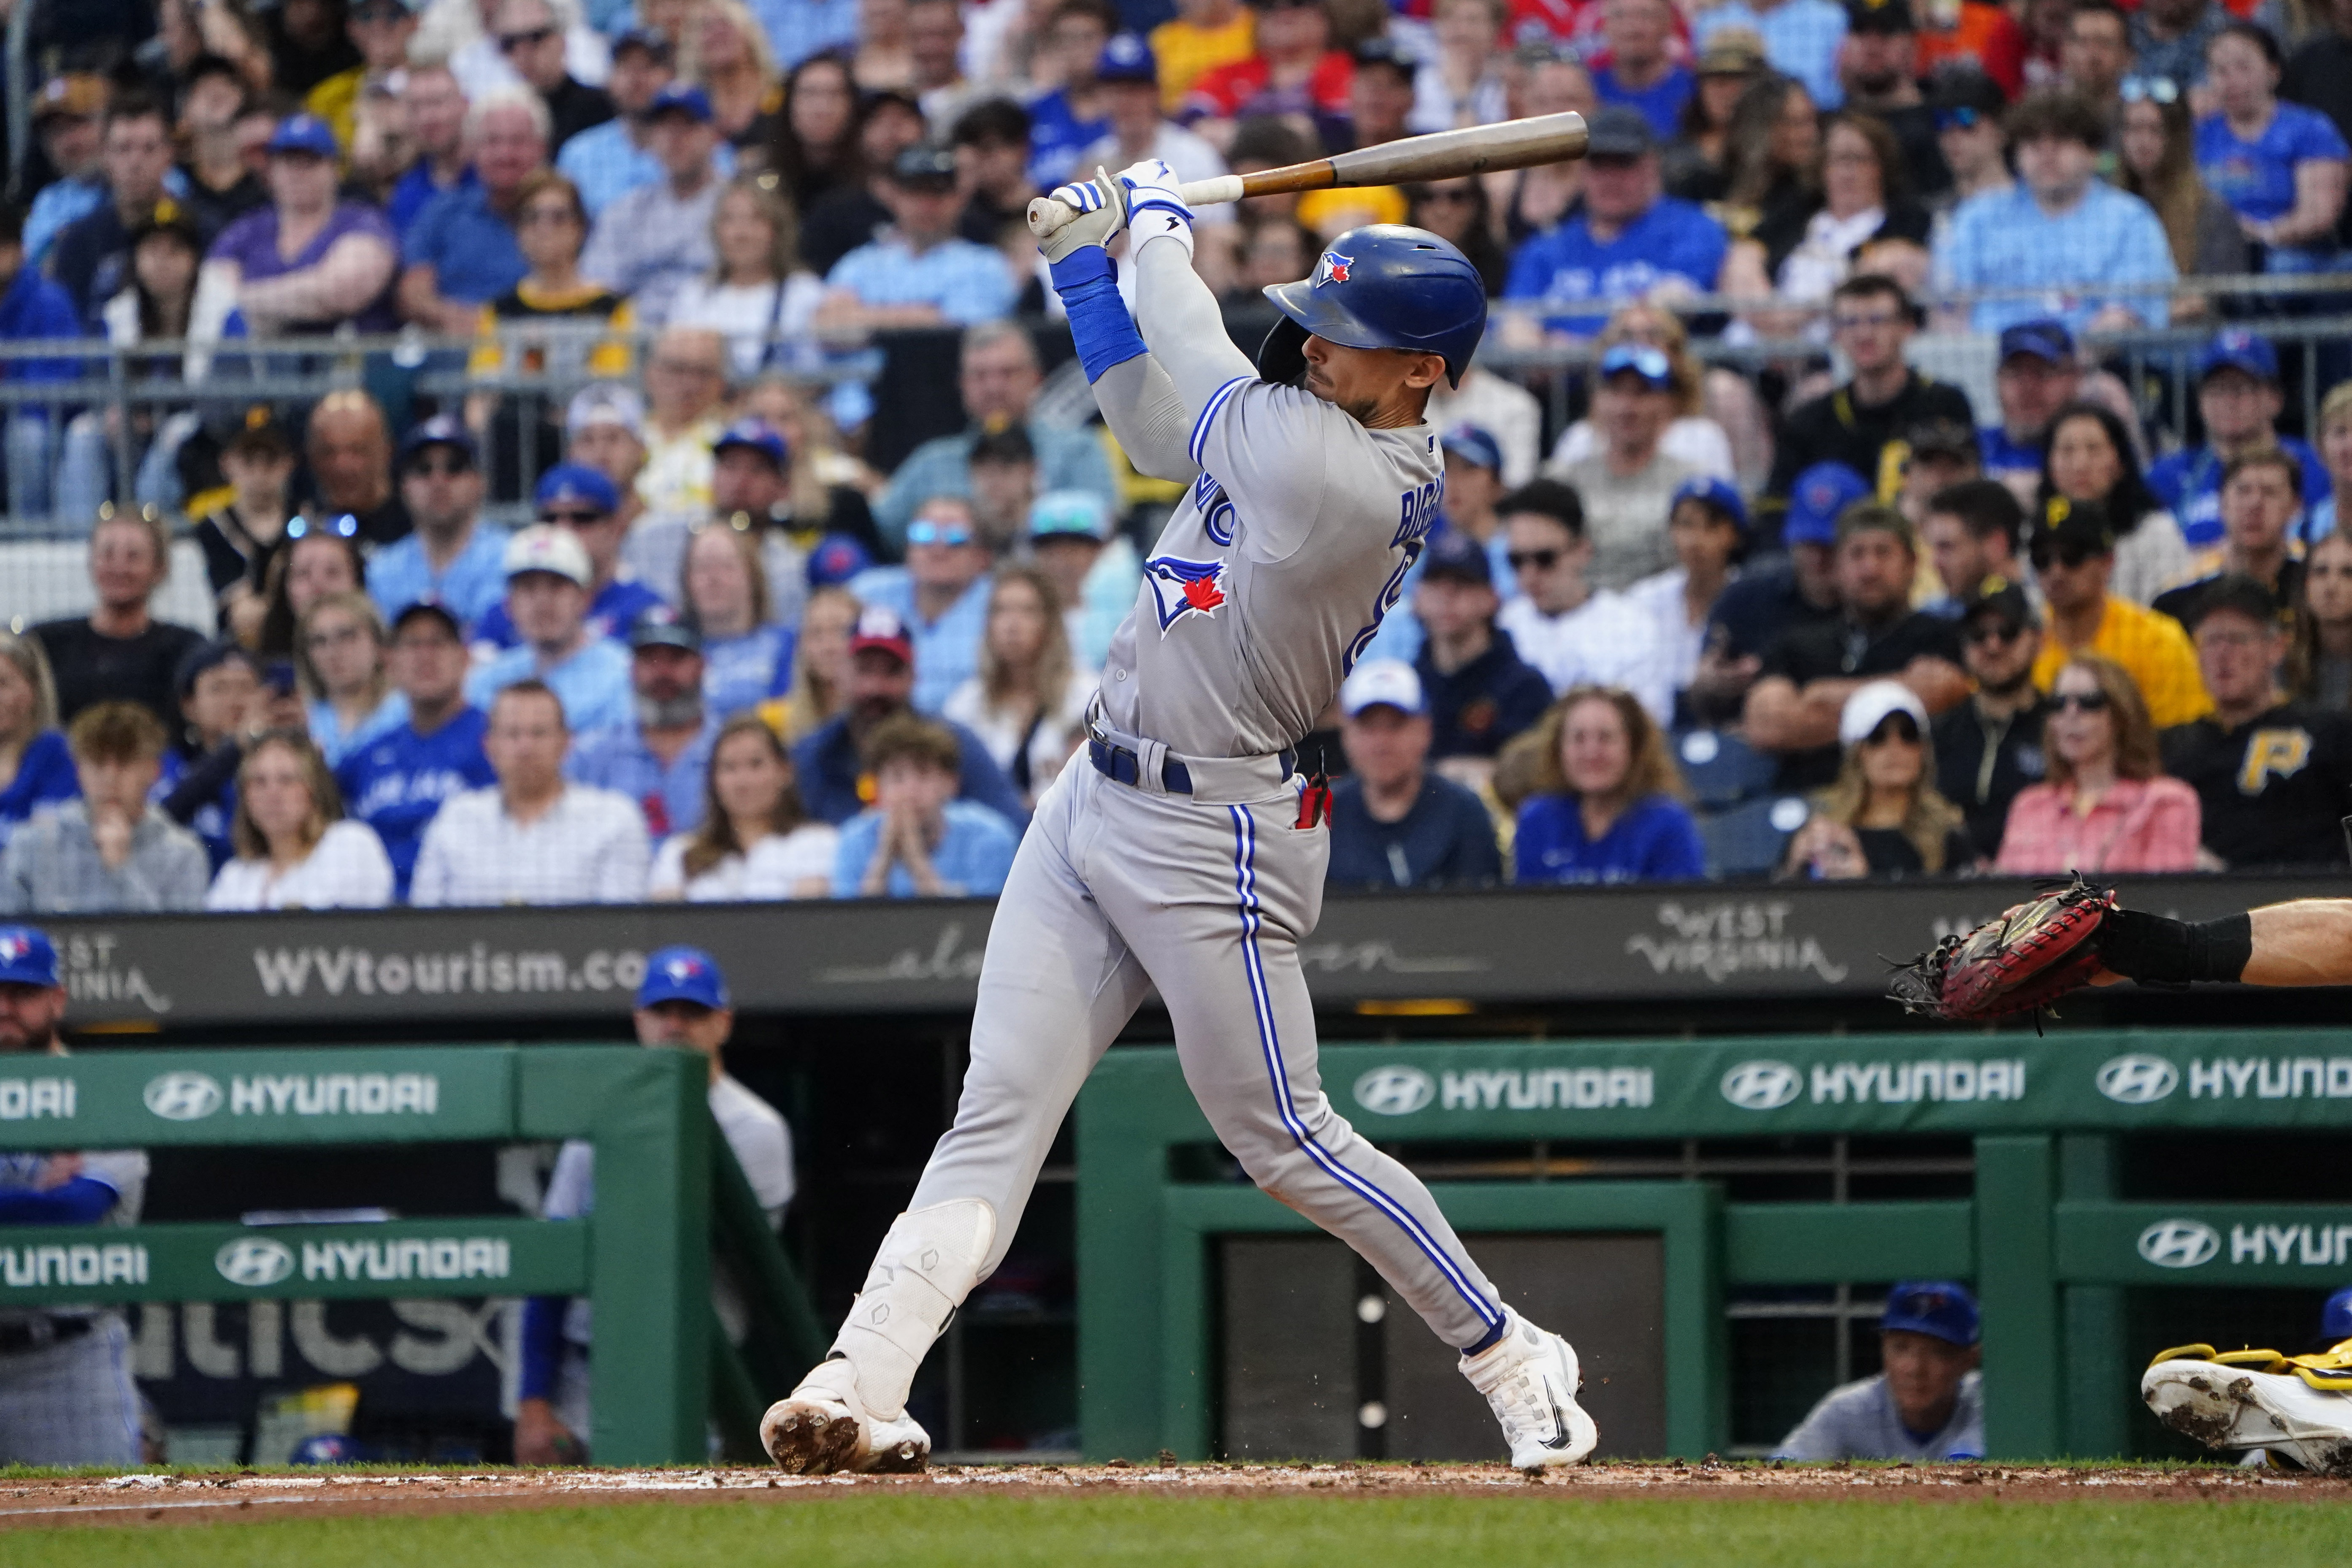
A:
POLYGON ((1063 769, 997 903, 971 1067, 910 1211, 995 1208, 1004 1258, 1063 1112, 1157 985, 1185 1081, 1272 1197, 1343 1237, 1449 1345, 1501 1305, 1418 1178, 1357 1138, 1315 1067, 1298 943, 1329 830, 1298 825, 1279 757, 1331 703, 1418 557, 1444 491, 1428 423, 1367 430, 1265 386, 1181 244, 1136 259, 1148 355, 1096 381, 1143 473, 1190 482, 1103 670, 1103 724, 1138 785, 1063 769), (1171 792, 1178 759, 1192 790, 1171 792))

